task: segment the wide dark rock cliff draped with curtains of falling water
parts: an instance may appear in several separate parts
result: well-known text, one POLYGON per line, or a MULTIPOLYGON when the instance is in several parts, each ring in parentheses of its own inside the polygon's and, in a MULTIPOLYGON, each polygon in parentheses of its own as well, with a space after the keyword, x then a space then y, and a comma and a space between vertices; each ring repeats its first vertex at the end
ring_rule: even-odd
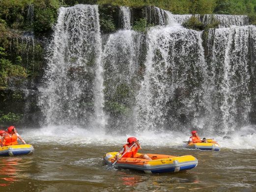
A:
POLYGON ((52 33, 11 39, 30 75, 9 78, 0 110, 27 126, 228 133, 256 121, 255 41, 247 16, 61 7, 52 33), (182 27, 195 19, 203 30, 182 27))

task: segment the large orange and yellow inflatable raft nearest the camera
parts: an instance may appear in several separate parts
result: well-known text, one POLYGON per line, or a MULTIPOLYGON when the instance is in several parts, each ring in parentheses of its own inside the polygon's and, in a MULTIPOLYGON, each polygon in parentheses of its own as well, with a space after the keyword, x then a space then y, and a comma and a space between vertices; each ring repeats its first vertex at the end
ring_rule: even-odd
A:
MULTIPOLYGON (((104 155, 103 159, 107 165, 112 165, 115 162, 116 153, 110 152, 104 155)), ((166 173, 192 169, 198 165, 198 160, 192 155, 180 157, 159 154, 147 155, 152 161, 139 158, 121 158, 116 162, 115 166, 118 168, 142 170, 145 173, 166 173)))

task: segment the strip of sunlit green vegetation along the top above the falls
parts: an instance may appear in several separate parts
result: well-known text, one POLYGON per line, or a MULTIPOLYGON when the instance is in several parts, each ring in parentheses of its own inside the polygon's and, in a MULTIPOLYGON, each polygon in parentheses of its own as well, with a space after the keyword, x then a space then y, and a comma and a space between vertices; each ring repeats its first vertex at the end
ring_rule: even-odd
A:
POLYGON ((256 0, 98 0, 99 4, 157 6, 175 14, 250 14, 256 12, 256 0))

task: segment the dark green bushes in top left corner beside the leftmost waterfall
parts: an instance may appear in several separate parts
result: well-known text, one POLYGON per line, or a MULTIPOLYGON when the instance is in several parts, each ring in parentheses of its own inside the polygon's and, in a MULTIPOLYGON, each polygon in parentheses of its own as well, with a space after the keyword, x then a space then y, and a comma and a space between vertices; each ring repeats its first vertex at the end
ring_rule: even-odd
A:
POLYGON ((8 27, 28 30, 33 27, 37 33, 48 32, 57 19, 59 0, 1 0, 0 19, 8 27), (33 6, 33 23, 28 21, 28 8, 33 6))

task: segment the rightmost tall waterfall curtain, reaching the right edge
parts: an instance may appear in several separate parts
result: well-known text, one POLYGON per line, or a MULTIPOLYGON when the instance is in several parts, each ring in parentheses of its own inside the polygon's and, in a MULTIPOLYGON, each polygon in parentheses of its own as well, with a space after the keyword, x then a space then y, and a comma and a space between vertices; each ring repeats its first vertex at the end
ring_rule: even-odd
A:
POLYGON ((207 68, 209 99, 213 127, 222 132, 233 131, 249 124, 252 108, 252 70, 255 61, 250 59, 250 41, 256 41, 256 27, 230 27, 210 29, 208 36, 207 68))

